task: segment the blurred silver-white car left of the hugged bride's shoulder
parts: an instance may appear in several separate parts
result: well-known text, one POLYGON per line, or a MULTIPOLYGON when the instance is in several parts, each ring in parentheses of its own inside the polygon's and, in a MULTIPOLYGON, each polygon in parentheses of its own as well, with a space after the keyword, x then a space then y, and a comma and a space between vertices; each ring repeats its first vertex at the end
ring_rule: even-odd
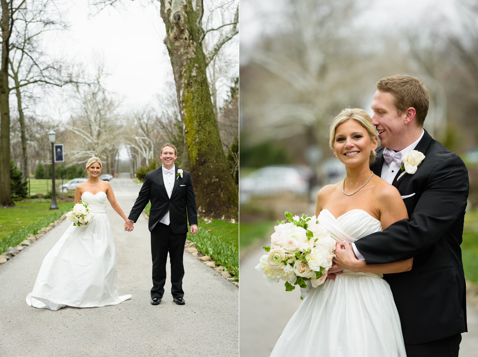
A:
POLYGON ((270 196, 281 191, 304 194, 309 188, 306 167, 264 166, 239 180, 241 201, 250 195, 270 196))

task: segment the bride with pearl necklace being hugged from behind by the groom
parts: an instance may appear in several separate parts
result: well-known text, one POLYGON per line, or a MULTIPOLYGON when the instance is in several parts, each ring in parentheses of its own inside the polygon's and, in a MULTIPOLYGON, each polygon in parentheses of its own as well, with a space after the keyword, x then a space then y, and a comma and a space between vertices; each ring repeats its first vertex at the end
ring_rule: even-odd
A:
MULTIPOLYGON (((408 218, 398 190, 369 169, 377 142, 370 116, 361 109, 344 109, 332 122, 330 146, 347 176, 320 190, 316 216, 337 241, 336 250, 408 218)), ((366 265, 361 272, 344 270, 317 288, 307 282, 301 289, 304 301, 271 357, 405 357, 400 317, 382 278, 409 271, 412 264, 413 258, 366 265)))

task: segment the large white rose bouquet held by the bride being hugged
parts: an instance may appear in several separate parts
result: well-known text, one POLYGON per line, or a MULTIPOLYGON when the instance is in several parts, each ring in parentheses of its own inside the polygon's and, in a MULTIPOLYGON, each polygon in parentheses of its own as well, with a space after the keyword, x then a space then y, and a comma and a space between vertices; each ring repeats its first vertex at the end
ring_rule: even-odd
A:
POLYGON ((285 291, 295 289, 293 285, 306 288, 306 280, 314 287, 323 284, 335 257, 334 239, 315 216, 292 217, 286 211, 285 218, 277 221, 271 245, 263 247, 267 254, 261 257, 256 269, 268 285, 285 280, 285 291))

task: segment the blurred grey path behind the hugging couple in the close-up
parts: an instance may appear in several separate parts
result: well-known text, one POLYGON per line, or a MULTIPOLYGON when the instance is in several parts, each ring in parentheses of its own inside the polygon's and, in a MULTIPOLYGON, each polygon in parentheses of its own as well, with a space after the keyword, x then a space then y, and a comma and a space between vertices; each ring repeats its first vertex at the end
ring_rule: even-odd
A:
MULTIPOLYGON (((241 357, 269 357, 282 330, 301 303, 298 287, 285 292, 282 281, 267 286, 262 274, 254 269, 263 254, 263 249, 257 249, 240 261, 241 357)), ((462 334, 459 357, 476 357, 478 312, 471 305, 467 306, 467 320, 468 332, 462 334)))

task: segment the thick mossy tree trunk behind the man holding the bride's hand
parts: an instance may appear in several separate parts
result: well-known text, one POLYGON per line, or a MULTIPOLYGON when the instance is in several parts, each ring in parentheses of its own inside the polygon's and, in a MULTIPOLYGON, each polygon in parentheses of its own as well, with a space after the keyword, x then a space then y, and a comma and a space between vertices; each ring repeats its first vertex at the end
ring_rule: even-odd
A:
MULTIPOLYGON (((195 4, 202 6, 202 1, 196 0, 195 4)), ((164 43, 173 66, 179 110, 185 125, 198 215, 237 220, 238 191, 219 136, 207 83, 206 56, 200 42, 202 30, 192 0, 161 0, 161 17, 166 25, 164 43)))

